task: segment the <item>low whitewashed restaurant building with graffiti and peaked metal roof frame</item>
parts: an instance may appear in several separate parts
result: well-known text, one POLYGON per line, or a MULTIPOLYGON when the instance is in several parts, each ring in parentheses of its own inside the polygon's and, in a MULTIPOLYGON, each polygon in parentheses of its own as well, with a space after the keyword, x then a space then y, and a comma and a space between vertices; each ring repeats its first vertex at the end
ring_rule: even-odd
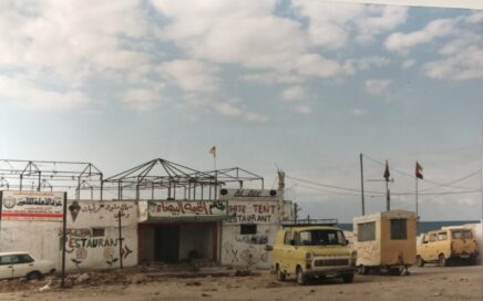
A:
MULTIPOLYGON (((75 181, 76 197, 81 184, 93 195, 93 185, 80 176, 75 181)), ((101 186, 99 199, 66 200, 66 270, 192 260, 268 268, 264 246, 273 242, 280 221, 292 217, 282 173, 278 189, 264 189, 261 177, 240 168, 201 173, 156 159, 102 179, 101 186), (167 175, 150 174, 156 167, 167 175), (243 187, 254 179, 260 189, 243 187), (117 198, 102 199, 105 191, 117 198)), ((29 251, 60 269, 63 205, 63 193, 3 190, 0 251, 29 251)))

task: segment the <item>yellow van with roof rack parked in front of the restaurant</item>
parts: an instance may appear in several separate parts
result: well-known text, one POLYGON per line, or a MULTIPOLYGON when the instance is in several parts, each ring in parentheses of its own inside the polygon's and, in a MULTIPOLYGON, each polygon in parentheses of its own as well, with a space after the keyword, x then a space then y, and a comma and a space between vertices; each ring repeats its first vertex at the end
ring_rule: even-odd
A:
POLYGON ((311 278, 339 277, 353 281, 356 257, 337 220, 284 222, 275 237, 271 269, 279 281, 295 276, 299 284, 311 278))

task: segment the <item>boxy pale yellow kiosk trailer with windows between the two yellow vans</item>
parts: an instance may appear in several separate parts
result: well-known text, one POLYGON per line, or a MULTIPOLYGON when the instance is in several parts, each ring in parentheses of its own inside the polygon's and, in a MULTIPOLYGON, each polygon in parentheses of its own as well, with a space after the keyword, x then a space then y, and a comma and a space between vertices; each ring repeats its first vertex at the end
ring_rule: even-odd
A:
POLYGON ((408 273, 415 263, 415 214, 391 210, 353 218, 353 243, 359 273, 388 270, 408 273))

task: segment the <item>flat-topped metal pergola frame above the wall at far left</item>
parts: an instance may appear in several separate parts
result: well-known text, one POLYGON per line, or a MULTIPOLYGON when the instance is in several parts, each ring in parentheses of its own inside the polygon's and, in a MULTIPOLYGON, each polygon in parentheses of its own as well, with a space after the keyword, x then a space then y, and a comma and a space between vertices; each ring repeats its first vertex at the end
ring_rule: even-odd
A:
POLYGON ((95 189, 103 198, 103 174, 92 163, 0 159, 0 189, 24 190, 29 184, 37 191, 55 188, 74 191, 76 199, 84 189, 90 189, 93 199, 95 189))

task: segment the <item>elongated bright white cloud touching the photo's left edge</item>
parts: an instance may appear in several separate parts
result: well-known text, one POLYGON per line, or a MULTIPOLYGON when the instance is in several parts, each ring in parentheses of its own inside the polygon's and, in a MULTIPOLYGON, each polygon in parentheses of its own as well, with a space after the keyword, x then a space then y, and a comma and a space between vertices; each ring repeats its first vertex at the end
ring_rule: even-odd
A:
POLYGON ((24 110, 63 111, 84 107, 92 100, 76 90, 45 90, 23 79, 0 75, 0 100, 24 110))

